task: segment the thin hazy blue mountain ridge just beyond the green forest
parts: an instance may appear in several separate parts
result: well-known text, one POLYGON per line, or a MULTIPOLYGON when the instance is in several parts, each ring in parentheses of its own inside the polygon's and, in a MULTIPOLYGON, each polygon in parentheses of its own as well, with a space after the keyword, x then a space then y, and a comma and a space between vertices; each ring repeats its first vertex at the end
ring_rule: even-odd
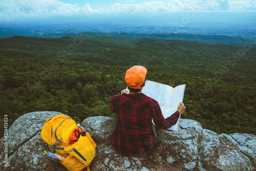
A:
MULTIPOLYGON (((13 35, 20 35, 19 33, 15 34, 15 30, 0 28, 0 38, 11 37, 13 35)), ((29 30, 25 30, 24 36, 31 37, 40 37, 40 38, 61 38, 64 36, 71 37, 89 37, 89 38, 97 38, 97 37, 115 37, 122 38, 130 41, 137 41, 140 38, 148 37, 148 38, 161 38, 161 39, 169 39, 169 40, 186 40, 186 41, 200 41, 206 42, 208 44, 227 44, 227 45, 236 45, 243 46, 244 44, 251 44, 255 41, 255 38, 244 38, 244 37, 235 37, 235 36, 226 36, 226 35, 207 35, 207 34, 188 34, 188 33, 105 33, 105 32, 83 32, 83 33, 39 33, 39 32, 30 32, 29 30)))

